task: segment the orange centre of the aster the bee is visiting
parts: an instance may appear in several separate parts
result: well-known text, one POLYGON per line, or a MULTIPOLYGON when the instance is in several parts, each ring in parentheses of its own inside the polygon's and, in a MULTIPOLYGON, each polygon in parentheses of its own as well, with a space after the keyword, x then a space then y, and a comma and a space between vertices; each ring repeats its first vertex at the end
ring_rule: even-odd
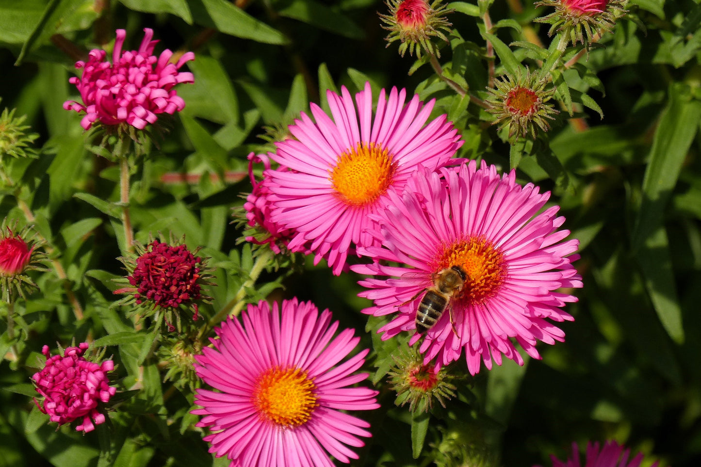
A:
POLYGON ((457 241, 438 257, 437 271, 461 266, 465 283, 458 299, 477 304, 486 302, 504 283, 507 264, 501 250, 482 237, 457 241))

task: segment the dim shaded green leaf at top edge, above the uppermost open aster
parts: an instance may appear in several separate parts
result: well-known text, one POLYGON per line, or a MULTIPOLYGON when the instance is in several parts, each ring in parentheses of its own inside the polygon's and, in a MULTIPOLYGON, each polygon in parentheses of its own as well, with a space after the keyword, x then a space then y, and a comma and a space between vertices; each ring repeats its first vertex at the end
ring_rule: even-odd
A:
POLYGON ((349 39, 365 38, 365 32, 348 19, 348 15, 334 11, 314 0, 292 0, 282 8, 278 8, 278 14, 349 39))

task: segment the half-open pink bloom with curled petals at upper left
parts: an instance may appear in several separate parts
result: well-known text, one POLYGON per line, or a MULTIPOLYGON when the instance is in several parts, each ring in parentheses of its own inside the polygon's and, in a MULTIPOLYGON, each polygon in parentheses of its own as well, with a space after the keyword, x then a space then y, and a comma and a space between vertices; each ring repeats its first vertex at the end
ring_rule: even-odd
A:
POLYGON ((174 89, 177 83, 193 83, 189 72, 177 70, 195 54, 187 52, 177 64, 170 63, 172 52, 163 50, 160 56, 153 55, 158 41, 151 41, 153 29, 144 29, 144 40, 139 50, 122 53, 126 38, 124 29, 117 29, 112 62, 106 60, 107 52, 90 50, 88 62, 76 62, 83 75, 72 77, 69 82, 76 85, 83 103, 68 100, 63 108, 79 113, 85 112, 81 126, 88 130, 93 123, 121 125, 126 123, 139 130, 147 124, 156 123, 158 114, 174 114, 185 107, 182 97, 174 89))

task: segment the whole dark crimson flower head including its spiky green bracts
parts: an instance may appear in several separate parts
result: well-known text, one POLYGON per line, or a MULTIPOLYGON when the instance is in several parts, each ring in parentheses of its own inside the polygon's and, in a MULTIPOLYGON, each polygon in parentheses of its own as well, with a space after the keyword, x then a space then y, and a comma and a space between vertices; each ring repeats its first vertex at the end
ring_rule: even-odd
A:
POLYGON ((137 319, 153 317, 156 327, 165 320, 170 331, 181 332, 184 311, 191 311, 196 321, 199 303, 211 302, 203 288, 213 285, 213 276, 207 258, 196 256, 199 248, 191 252, 184 241, 184 236, 175 241, 171 234, 168 242, 158 238, 150 238, 147 245, 135 242, 135 253, 118 258, 127 276, 115 280, 123 287, 113 293, 127 296, 116 304, 136 305, 132 314, 137 319))

